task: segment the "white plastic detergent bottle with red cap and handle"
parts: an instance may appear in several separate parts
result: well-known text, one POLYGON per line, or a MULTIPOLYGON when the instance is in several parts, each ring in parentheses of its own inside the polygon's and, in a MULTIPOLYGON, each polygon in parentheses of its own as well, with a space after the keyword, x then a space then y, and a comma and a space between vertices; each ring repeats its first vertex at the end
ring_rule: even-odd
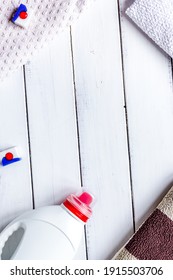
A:
POLYGON ((14 249, 6 259, 73 259, 84 233, 84 225, 92 214, 92 200, 87 192, 80 196, 71 194, 61 205, 38 208, 19 216, 0 234, 0 259, 5 259, 3 251, 9 247, 8 242, 14 249), (19 232, 20 238, 15 239, 19 232))

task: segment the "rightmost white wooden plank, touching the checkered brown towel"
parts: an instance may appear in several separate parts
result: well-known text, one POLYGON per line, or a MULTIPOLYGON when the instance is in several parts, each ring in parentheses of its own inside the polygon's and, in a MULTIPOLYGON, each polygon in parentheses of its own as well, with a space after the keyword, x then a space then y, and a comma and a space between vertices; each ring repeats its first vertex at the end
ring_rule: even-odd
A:
POLYGON ((171 61, 124 16, 127 2, 119 2, 138 227, 167 192, 173 178, 171 61))

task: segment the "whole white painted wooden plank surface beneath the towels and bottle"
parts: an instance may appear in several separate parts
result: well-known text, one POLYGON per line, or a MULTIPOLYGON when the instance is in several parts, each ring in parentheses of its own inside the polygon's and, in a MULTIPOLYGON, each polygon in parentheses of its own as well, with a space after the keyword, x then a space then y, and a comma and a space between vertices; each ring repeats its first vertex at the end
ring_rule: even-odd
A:
POLYGON ((96 197, 78 259, 109 259, 173 178, 171 60, 124 16, 132 1, 99 0, 0 85, 0 229, 85 187, 96 197))

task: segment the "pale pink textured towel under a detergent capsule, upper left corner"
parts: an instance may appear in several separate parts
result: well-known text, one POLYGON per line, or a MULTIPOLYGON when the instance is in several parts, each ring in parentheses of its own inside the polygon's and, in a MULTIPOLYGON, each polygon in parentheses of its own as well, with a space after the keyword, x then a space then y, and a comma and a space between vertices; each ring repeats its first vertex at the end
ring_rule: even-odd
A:
POLYGON ((31 59, 45 42, 69 26, 93 0, 2 0, 0 5, 0 80, 31 59), (33 11, 27 29, 10 19, 20 4, 33 11))

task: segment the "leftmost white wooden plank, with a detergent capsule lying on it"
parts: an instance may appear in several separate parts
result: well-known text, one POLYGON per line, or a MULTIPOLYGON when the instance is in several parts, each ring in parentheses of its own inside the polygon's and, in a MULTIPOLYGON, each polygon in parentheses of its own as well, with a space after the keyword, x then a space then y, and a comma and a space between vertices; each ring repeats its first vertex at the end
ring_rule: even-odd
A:
POLYGON ((25 90, 22 69, 0 85, 0 150, 19 146, 22 161, 0 167, 0 230, 32 208, 25 90))

